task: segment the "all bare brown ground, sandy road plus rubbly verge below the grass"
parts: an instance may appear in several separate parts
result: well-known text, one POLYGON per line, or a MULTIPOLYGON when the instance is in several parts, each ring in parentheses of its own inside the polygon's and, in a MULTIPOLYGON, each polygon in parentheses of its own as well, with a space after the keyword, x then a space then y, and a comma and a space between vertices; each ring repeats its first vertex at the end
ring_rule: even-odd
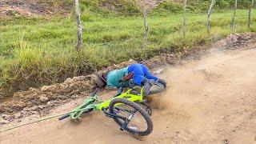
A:
MULTIPOLYGON (((3 132, 1 143, 256 143, 255 48, 254 34, 234 34, 176 65, 168 65, 174 61, 172 55, 151 59, 151 66, 162 69, 158 75, 169 83, 154 98, 154 131, 145 138, 118 130, 111 118, 95 112, 80 123, 54 118, 3 132)), ((1 122, 7 123, 1 128, 72 110, 90 93, 89 79, 69 78, 62 84, 17 93, 1 104, 6 112, 1 122), (21 109, 13 102, 25 104, 21 109)), ((101 95, 113 94, 106 90, 101 95)))

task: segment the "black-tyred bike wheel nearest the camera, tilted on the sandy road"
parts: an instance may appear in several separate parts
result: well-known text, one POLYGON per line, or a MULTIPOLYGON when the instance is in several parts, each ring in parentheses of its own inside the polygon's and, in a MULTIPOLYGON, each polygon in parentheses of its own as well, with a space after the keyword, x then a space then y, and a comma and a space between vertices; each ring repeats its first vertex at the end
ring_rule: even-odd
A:
POLYGON ((126 130, 130 134, 137 134, 139 136, 146 136, 153 131, 153 122, 150 115, 146 113, 135 102, 130 102, 126 98, 115 98, 110 102, 109 110, 111 114, 116 114, 126 118, 114 117, 114 121, 118 123, 121 130, 126 130))

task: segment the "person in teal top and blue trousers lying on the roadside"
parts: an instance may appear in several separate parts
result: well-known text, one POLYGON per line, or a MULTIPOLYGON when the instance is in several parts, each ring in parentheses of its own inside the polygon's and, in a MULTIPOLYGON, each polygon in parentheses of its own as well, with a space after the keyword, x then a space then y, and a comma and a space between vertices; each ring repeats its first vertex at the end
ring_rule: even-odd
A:
POLYGON ((143 64, 131 64, 119 70, 111 70, 96 74, 94 83, 99 88, 144 86, 143 96, 150 94, 154 82, 161 83, 166 88, 166 81, 150 74, 150 70, 143 64))

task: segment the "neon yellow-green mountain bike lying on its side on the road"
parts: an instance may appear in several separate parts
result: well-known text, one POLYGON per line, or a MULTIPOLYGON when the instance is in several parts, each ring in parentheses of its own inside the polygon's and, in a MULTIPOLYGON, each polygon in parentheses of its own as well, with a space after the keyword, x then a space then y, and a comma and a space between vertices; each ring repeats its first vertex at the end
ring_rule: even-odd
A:
MULTIPOLYGON (((164 89, 162 84, 155 82, 150 89, 150 94, 156 94, 164 89)), ((146 105, 146 100, 142 95, 143 87, 134 86, 133 88, 122 92, 122 88, 118 90, 118 94, 114 95, 106 101, 101 101, 98 98, 98 90, 96 88, 90 95, 90 98, 72 110, 69 114, 65 114, 58 118, 62 120, 70 117, 78 119, 82 114, 90 113, 93 110, 102 110, 107 117, 113 118, 120 126, 120 130, 126 130, 130 134, 146 136, 153 131, 153 122, 150 118, 151 108, 146 105), (142 108, 142 106, 146 108, 142 108)))

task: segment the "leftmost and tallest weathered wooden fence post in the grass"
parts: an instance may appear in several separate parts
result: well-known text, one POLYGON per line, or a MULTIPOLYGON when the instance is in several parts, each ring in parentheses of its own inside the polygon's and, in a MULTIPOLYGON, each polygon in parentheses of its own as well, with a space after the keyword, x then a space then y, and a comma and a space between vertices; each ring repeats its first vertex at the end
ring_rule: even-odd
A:
POLYGON ((76 20, 77 20, 77 25, 78 25, 78 43, 76 46, 76 50, 80 51, 81 47, 82 47, 82 26, 81 26, 81 20, 80 20, 78 0, 74 0, 74 8, 75 8, 76 20))

